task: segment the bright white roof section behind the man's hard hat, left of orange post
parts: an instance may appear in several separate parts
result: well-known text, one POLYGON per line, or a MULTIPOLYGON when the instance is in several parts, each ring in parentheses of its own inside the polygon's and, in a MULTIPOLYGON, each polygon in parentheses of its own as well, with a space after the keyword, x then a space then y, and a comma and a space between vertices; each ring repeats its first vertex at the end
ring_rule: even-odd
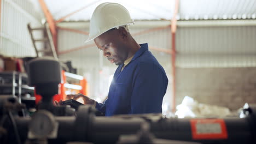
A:
POLYGON ((97 5, 104 2, 115 2, 124 5, 129 10, 132 19, 135 20, 160 20, 171 19, 174 7, 174 1, 159 0, 156 3, 153 0, 141 0, 141 1, 80 1, 80 0, 45 0, 48 8, 53 14, 54 19, 58 20, 75 10, 86 7, 82 11, 68 17, 66 21, 88 21, 97 5))

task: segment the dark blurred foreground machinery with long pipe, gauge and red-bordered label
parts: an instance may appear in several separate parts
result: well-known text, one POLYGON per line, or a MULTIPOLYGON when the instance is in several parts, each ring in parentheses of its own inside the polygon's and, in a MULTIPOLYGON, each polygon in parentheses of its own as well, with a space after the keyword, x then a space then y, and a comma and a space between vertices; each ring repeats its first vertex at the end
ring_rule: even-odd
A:
POLYGON ((60 65, 49 58, 29 63, 30 85, 42 101, 30 116, 15 98, 0 97, 0 143, 256 143, 256 107, 245 107, 244 118, 163 118, 161 113, 96 116, 88 105, 74 111, 54 106, 61 81, 60 65))

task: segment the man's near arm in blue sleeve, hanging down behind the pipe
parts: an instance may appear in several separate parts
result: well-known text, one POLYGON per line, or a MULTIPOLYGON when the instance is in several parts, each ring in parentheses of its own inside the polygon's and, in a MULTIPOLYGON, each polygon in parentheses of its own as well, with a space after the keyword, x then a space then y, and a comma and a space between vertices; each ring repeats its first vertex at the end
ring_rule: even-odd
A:
POLYGON ((159 65, 140 63, 133 77, 131 113, 160 113, 168 79, 159 65))

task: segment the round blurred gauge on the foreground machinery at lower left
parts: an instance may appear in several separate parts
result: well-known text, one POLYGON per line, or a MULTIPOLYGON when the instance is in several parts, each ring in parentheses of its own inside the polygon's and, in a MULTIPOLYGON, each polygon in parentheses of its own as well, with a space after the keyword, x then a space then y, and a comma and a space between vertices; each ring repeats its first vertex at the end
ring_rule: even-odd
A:
POLYGON ((39 110, 34 113, 28 131, 28 139, 55 139, 59 123, 49 111, 39 110))

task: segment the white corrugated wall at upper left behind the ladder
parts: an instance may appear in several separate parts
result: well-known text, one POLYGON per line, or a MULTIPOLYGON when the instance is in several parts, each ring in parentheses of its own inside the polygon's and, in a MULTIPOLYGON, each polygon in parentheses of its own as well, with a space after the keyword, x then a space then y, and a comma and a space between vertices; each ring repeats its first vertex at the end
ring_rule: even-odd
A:
MULTIPOLYGON (((0 27, 0 54, 4 56, 36 56, 27 23, 32 27, 42 26, 36 2, 31 0, 2 0, 0 27)), ((35 38, 42 38, 42 32, 34 32, 35 38)), ((42 47, 43 44, 37 44, 42 47)))

